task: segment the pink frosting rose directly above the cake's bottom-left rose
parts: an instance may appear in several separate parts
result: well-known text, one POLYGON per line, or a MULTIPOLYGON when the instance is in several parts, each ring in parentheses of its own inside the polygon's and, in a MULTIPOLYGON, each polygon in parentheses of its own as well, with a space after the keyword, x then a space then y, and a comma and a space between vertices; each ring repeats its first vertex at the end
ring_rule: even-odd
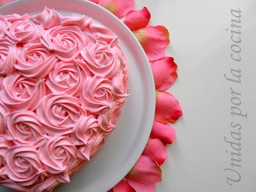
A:
POLYGON ((6 118, 8 132, 17 145, 42 145, 46 138, 45 127, 32 111, 15 111, 6 118))

